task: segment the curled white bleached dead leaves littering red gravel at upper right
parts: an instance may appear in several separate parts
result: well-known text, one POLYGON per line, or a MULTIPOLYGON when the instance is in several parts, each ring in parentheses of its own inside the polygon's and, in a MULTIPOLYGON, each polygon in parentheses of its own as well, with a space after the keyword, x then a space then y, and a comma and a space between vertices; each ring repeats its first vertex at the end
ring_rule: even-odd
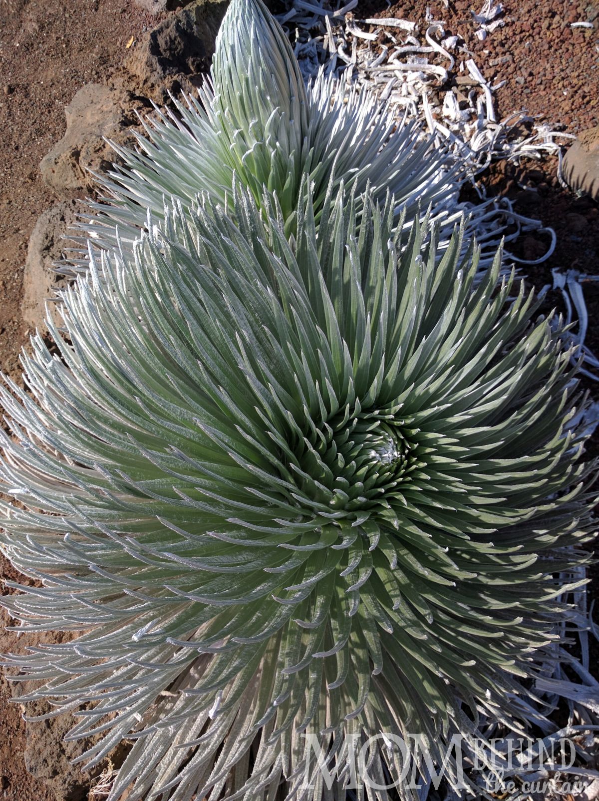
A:
MULTIPOLYGON (((551 131, 545 124, 519 112, 508 119, 498 121, 494 108, 494 94, 504 80, 490 83, 484 74, 488 66, 500 66, 500 59, 475 63, 472 53, 460 38, 444 34, 444 22, 427 15, 422 30, 414 22, 379 18, 355 19, 356 26, 363 30, 366 25, 376 25, 376 30, 387 34, 392 45, 378 46, 373 42, 356 38, 342 15, 326 15, 322 6, 326 0, 290 0, 290 10, 281 16, 285 30, 295 40, 300 68, 308 76, 316 70, 335 74, 340 81, 365 88, 396 108, 396 119, 406 119, 424 125, 432 135, 436 147, 449 151, 452 159, 462 165, 462 171, 474 182, 480 201, 460 199, 460 185, 454 186, 452 208, 465 215, 472 215, 470 232, 476 234, 483 246, 482 261, 487 263, 499 247, 517 239, 523 231, 538 231, 547 239, 545 256, 533 264, 548 258, 553 252, 553 232, 542 227, 537 219, 515 214, 509 199, 487 199, 484 184, 476 182, 476 175, 484 171, 489 163, 507 159, 517 162, 521 158, 541 159, 546 154, 560 155, 561 147, 556 141, 567 134, 551 131), (396 22, 404 22, 398 27, 396 22), (304 66, 305 65, 305 66, 304 66), (316 66, 315 66, 316 65, 316 66), (472 86, 449 89, 448 78, 472 75, 472 86), (451 95, 451 97, 448 97, 451 95)), ((503 23, 501 4, 485 0, 479 14, 480 30, 491 34, 503 23), (482 22, 480 22, 482 20, 482 22), (487 22, 484 22, 487 20, 487 22)), ((442 9, 435 9, 443 16, 442 9)), ((477 54, 476 58, 484 58, 477 54)), ((509 70, 509 66, 505 67, 509 70)), ((507 73, 506 73, 507 77, 507 73)), ((460 178, 463 178, 460 175, 460 178)), ((527 264, 513 253, 509 260, 527 264)))

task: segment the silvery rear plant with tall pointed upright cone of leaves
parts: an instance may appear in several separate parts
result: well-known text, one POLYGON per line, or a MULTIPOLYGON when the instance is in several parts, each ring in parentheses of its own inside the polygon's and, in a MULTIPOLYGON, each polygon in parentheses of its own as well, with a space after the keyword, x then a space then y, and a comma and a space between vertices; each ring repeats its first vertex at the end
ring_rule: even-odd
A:
MULTIPOLYGON (((170 111, 156 109, 143 123, 147 136, 137 135, 137 151, 115 146, 122 166, 112 179, 98 176, 111 200, 94 204, 86 226, 96 241, 115 244, 118 225, 121 243, 131 243, 146 225, 147 209, 162 219, 165 197, 187 212, 204 191, 225 203, 234 174, 258 205, 265 188, 277 195, 287 233, 295 231, 300 188, 311 187, 318 221, 332 178, 337 186, 341 180, 355 186, 356 199, 367 185, 381 201, 390 191, 396 219, 403 210, 405 223, 432 206, 442 239, 460 219, 464 163, 370 91, 324 74, 306 87, 287 36, 262 0, 232 0, 211 76, 198 98, 185 100, 173 99, 170 111)), ((488 215, 488 204, 471 211, 473 226, 488 215)))

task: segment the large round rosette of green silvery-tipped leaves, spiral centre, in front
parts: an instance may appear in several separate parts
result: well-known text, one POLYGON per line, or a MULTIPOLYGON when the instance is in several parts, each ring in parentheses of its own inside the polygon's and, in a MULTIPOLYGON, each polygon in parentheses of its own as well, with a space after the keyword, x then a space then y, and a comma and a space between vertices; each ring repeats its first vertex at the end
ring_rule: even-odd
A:
POLYGON ((368 194, 357 230, 343 187, 318 233, 300 200, 293 249, 233 195, 90 252, 59 355, 34 337, 2 392, 2 549, 41 586, 0 602, 77 634, 7 662, 83 761, 134 739, 111 801, 328 798, 307 735, 343 797, 353 737, 440 760, 480 715, 538 721, 593 533, 570 352, 500 254, 473 288, 463 231, 439 260, 368 194))

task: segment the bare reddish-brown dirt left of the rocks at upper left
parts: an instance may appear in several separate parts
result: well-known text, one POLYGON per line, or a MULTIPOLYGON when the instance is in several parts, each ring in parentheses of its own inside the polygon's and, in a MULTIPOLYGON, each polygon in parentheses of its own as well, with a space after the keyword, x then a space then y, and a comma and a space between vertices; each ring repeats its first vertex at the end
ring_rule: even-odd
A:
POLYGON ((22 265, 38 216, 57 202, 39 162, 65 132, 64 107, 103 83, 156 18, 130 0, 0 3, 0 365, 18 373, 22 265))

